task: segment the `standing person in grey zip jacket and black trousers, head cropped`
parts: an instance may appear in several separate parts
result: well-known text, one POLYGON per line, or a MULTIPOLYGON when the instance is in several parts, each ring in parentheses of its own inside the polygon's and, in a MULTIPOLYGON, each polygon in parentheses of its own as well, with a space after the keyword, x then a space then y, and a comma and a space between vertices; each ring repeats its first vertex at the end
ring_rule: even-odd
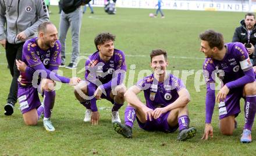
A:
POLYGON ((36 37, 39 24, 49 20, 44 1, 0 0, 0 43, 5 48, 12 82, 5 115, 12 115, 17 101, 17 78, 20 75, 15 59, 22 59, 23 44, 36 37), (5 27, 6 26, 6 27, 5 27))

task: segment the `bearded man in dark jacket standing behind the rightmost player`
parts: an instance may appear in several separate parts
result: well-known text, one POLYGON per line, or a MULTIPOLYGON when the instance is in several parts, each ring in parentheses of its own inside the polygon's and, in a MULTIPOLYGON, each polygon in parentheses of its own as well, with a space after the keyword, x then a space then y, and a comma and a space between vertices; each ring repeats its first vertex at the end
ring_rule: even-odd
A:
POLYGON ((255 14, 247 13, 244 20, 241 20, 241 26, 234 31, 232 42, 241 42, 246 46, 250 59, 256 66, 255 44, 256 44, 256 27, 255 14), (254 58, 255 57, 255 58, 254 58))

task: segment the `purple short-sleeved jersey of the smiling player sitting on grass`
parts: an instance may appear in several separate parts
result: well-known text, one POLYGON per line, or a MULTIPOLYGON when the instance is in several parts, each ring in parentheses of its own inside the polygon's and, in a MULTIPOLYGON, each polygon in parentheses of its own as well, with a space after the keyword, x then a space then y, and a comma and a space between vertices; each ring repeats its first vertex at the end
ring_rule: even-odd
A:
POLYGON ((153 110, 172 104, 179 97, 179 90, 186 88, 182 80, 172 74, 163 82, 158 82, 151 74, 138 81, 137 86, 144 91, 147 107, 153 110))

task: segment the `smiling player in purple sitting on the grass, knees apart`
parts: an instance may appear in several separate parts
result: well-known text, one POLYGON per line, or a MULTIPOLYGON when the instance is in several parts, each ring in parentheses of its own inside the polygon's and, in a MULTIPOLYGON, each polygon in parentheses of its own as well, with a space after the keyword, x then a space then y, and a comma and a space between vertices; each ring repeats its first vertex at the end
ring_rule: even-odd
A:
POLYGON ((168 61, 165 50, 152 50, 150 57, 154 73, 127 90, 125 124, 115 122, 114 129, 125 137, 131 137, 131 128, 137 118, 138 125, 144 130, 175 132, 179 128, 178 140, 194 137, 197 130, 189 128, 188 90, 179 78, 166 71, 168 61), (136 96, 141 90, 144 92, 146 104, 136 96))

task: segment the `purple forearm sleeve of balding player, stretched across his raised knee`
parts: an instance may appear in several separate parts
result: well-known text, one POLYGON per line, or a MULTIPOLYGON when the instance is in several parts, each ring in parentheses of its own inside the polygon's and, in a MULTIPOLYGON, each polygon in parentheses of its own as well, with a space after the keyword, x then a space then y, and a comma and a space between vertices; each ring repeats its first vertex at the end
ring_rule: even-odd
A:
POLYGON ((56 74, 55 72, 47 70, 42 63, 38 64, 37 66, 34 66, 33 68, 34 68, 35 72, 43 70, 47 73, 46 77, 43 74, 41 74, 42 78, 48 78, 53 81, 59 81, 59 82, 65 83, 65 84, 68 84, 70 82, 69 78, 62 77, 62 76, 56 74))

